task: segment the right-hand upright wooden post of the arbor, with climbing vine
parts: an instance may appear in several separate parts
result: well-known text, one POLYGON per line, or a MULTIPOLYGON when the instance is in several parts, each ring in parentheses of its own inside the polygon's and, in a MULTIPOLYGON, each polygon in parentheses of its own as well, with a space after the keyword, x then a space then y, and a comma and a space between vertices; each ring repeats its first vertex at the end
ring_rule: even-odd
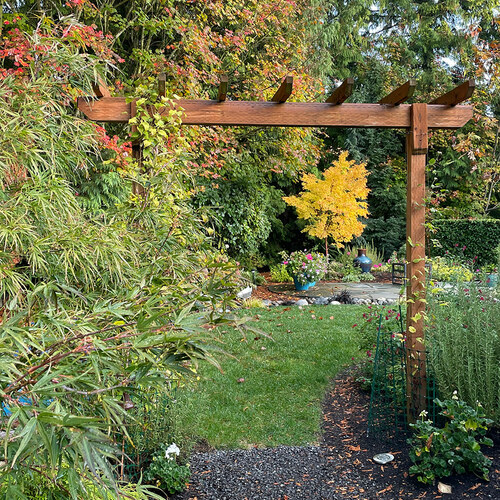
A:
POLYGON ((427 104, 412 104, 406 140, 406 397, 408 421, 426 409, 425 311, 425 159, 427 104))

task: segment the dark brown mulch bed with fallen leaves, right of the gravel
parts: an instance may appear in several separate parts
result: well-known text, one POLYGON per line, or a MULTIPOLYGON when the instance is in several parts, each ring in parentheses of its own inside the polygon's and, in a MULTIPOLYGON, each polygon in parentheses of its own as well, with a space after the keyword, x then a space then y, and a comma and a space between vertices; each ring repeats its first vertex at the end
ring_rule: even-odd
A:
POLYGON ((437 486, 422 485, 408 476, 411 462, 404 436, 390 441, 367 436, 369 402, 368 393, 361 391, 348 373, 337 379, 335 388, 327 394, 324 402, 324 446, 337 474, 352 479, 352 491, 346 495, 348 498, 500 499, 498 430, 491 435, 495 445, 483 450, 493 460, 490 481, 482 481, 473 474, 444 478, 442 482, 452 487, 452 494, 443 495, 437 486), (372 457, 380 452, 392 453, 395 460, 385 466, 377 465, 372 457), (363 486, 356 484, 360 477, 371 480, 373 488, 363 491, 363 486))

